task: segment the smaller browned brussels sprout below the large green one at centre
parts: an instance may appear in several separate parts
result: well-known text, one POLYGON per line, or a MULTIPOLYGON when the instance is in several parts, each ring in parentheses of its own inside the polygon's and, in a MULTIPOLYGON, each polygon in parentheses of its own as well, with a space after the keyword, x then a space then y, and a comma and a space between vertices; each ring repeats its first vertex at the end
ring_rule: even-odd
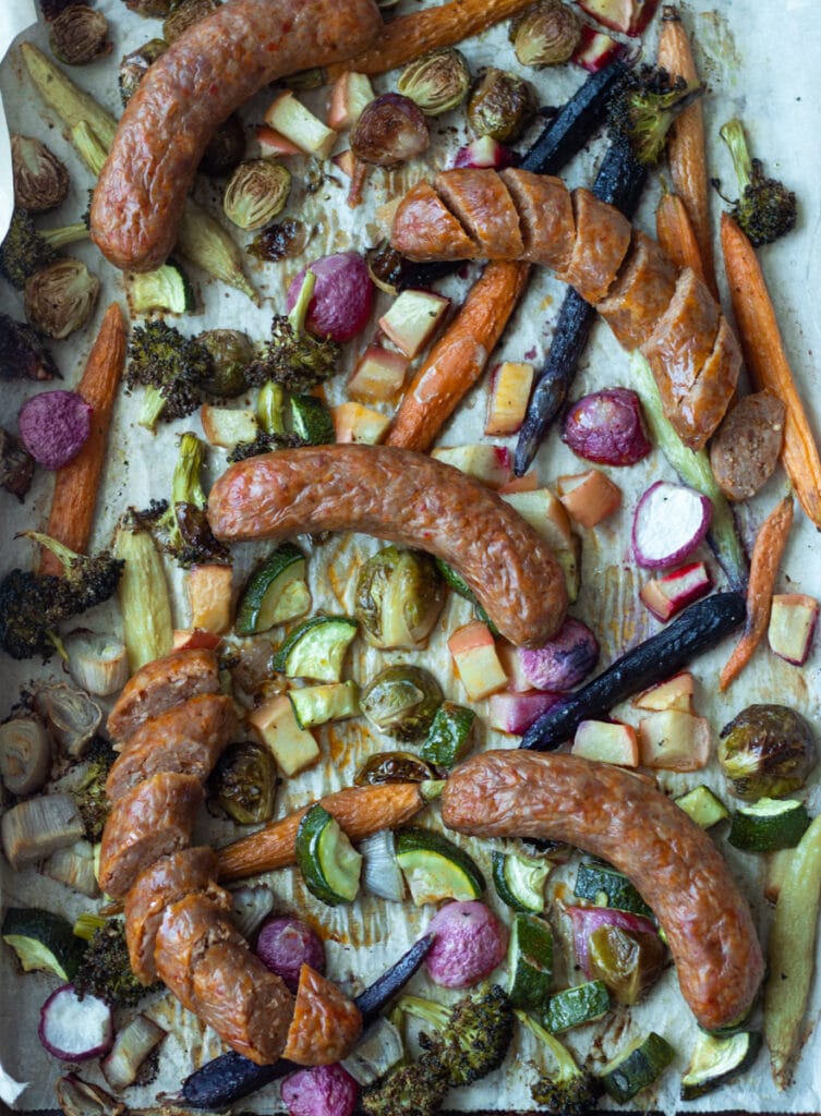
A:
POLYGON ((442 703, 439 683, 421 666, 388 666, 362 692, 362 712, 374 728, 403 742, 419 740, 442 703))

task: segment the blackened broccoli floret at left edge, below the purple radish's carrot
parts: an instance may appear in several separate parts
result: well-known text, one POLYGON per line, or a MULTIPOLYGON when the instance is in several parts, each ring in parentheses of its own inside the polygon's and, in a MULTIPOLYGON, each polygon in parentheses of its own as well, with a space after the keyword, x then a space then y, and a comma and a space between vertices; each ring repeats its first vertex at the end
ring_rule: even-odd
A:
POLYGON ((107 600, 117 587, 123 562, 109 555, 86 557, 39 531, 25 536, 51 550, 63 562, 63 577, 12 569, 0 581, 0 646, 12 658, 55 651, 65 656, 57 635, 60 623, 107 600))

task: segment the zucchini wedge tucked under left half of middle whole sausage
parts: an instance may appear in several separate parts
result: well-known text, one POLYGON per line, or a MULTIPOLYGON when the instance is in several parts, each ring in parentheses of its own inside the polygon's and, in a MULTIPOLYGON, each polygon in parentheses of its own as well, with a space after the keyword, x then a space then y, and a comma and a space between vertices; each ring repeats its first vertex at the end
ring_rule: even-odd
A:
POLYGON ((270 554, 248 578, 237 607, 237 635, 267 632, 311 608, 305 555, 293 542, 270 554))

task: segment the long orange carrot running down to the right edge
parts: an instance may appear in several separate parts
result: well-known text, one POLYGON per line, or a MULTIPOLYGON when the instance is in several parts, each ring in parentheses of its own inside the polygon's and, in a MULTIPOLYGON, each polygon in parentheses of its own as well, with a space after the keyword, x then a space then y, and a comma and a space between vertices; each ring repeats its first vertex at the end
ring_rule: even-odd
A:
POLYGON ((755 249, 728 213, 722 214, 722 250, 744 363, 755 391, 772 392, 786 407, 781 460, 799 503, 821 529, 821 455, 755 249))

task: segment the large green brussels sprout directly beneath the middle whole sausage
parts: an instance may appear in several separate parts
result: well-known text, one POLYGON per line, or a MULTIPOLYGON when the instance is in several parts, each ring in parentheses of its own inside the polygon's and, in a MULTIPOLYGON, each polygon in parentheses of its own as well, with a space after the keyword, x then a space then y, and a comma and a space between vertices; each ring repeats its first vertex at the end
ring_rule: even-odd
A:
POLYGON ((418 647, 436 624, 445 586, 432 558, 385 547, 360 569, 356 618, 374 647, 418 647))

